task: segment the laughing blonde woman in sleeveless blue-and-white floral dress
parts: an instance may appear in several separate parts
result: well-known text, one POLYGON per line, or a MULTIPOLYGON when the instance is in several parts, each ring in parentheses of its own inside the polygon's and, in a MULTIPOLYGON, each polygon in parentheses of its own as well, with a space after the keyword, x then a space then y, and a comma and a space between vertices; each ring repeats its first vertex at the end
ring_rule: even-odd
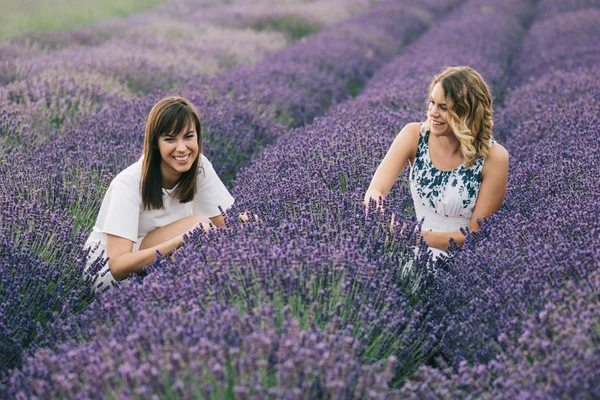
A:
POLYGON ((422 239, 437 257, 450 239, 465 241, 461 228, 500 209, 508 181, 508 153, 492 138, 492 97, 481 75, 450 67, 429 86, 427 120, 398 134, 365 194, 385 198, 410 163, 410 189, 422 239))

